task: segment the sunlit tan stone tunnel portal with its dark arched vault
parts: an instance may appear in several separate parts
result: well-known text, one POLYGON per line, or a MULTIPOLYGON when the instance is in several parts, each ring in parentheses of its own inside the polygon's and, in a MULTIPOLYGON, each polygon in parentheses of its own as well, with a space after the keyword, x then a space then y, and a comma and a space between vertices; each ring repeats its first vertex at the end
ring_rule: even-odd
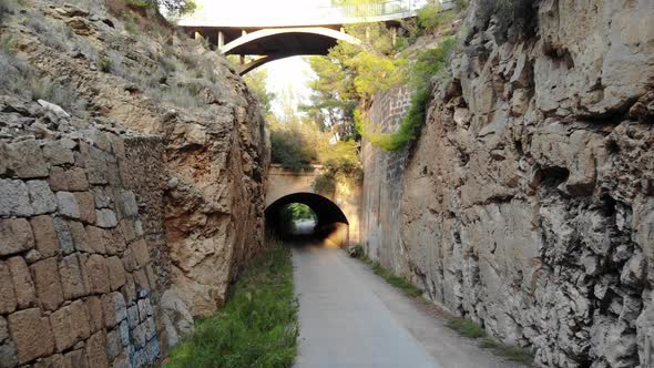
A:
POLYGON ((266 184, 266 223, 275 226, 280 211, 292 203, 309 206, 318 217, 316 228, 337 246, 359 242, 361 188, 339 183, 334 193, 318 193, 314 181, 325 174, 321 165, 292 171, 278 164, 270 165, 266 184))

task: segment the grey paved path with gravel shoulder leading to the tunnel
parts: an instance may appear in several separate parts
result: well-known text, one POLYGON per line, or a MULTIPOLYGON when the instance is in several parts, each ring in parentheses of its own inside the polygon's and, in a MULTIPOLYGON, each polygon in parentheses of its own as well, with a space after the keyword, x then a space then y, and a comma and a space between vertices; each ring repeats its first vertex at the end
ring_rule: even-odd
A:
POLYGON ((295 247, 300 340, 295 367, 522 367, 502 361, 345 252, 295 247))

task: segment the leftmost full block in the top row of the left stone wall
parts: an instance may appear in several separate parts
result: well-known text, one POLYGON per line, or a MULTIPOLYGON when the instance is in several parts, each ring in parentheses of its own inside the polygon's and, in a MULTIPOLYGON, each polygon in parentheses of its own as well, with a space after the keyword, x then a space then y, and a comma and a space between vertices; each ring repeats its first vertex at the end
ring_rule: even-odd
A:
POLYGON ((10 166, 21 178, 48 176, 48 165, 35 140, 9 144, 10 166))

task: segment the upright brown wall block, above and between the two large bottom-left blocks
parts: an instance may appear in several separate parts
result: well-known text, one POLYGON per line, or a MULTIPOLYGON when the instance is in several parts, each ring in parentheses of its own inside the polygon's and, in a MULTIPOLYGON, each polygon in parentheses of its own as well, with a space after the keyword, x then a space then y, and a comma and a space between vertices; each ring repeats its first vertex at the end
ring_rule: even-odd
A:
POLYGON ((48 258, 30 266, 41 307, 57 310, 63 303, 63 290, 59 278, 57 259, 48 258))

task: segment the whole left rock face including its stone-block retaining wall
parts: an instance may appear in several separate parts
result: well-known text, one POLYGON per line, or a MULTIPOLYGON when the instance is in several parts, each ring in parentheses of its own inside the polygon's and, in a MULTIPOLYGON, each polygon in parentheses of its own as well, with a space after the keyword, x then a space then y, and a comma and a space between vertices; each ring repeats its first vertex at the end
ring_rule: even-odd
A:
POLYGON ((0 4, 0 367, 150 364, 263 247, 243 81, 152 11, 74 2, 0 4))

